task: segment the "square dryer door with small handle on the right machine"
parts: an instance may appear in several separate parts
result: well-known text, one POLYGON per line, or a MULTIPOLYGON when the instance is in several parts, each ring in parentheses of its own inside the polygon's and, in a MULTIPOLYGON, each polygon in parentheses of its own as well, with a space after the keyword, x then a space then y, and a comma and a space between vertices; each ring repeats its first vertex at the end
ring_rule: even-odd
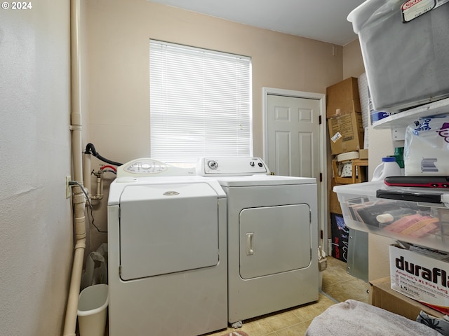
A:
POLYGON ((311 262, 307 204, 243 209, 240 275, 243 279, 308 267, 311 262))

